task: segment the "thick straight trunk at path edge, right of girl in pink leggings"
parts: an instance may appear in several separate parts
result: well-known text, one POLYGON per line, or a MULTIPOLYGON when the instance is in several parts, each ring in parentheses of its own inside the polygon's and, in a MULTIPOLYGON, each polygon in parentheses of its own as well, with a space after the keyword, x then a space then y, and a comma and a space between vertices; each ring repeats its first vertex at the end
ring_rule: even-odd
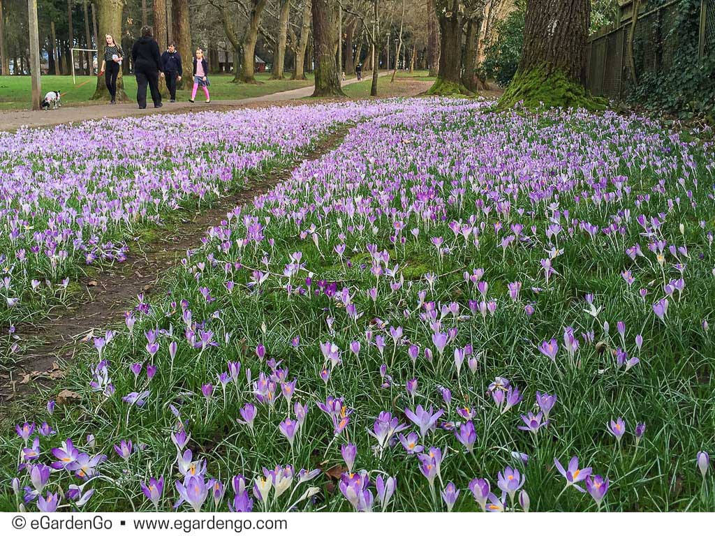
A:
POLYGON ((337 33, 337 1, 313 0, 313 46, 315 48, 315 91, 312 96, 345 96, 335 53, 340 43, 337 33))

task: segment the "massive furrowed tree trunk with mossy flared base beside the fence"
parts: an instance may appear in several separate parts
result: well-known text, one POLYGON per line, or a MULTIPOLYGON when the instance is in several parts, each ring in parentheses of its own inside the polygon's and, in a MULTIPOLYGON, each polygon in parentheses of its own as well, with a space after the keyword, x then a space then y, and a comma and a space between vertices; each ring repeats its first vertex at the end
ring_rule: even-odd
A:
POLYGON ((590 0, 528 0, 521 60, 499 99, 501 108, 604 107, 583 87, 590 0))

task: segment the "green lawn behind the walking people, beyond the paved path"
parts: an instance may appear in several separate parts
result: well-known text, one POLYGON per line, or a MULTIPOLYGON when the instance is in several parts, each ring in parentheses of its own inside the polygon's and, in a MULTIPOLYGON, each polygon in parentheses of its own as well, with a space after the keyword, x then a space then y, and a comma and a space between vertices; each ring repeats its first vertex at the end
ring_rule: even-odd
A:
MULTIPOLYGON (((288 91, 312 85, 312 74, 308 79, 270 80, 270 73, 256 74, 259 84, 234 84, 233 75, 214 74, 211 80, 211 98, 215 100, 247 99, 279 91, 288 91)), ((47 91, 60 91, 63 106, 79 106, 80 104, 102 104, 103 101, 90 101, 94 94, 94 76, 77 76, 77 84, 72 84, 71 76, 42 76, 42 94, 47 91)), ((130 99, 134 99, 137 91, 137 81, 134 76, 124 76, 124 91, 130 99)), ((200 97, 203 93, 200 93, 200 97)), ((177 92, 179 100, 187 100, 189 91, 177 92)), ((0 76, 0 110, 28 109, 30 107, 31 91, 29 76, 0 76)))

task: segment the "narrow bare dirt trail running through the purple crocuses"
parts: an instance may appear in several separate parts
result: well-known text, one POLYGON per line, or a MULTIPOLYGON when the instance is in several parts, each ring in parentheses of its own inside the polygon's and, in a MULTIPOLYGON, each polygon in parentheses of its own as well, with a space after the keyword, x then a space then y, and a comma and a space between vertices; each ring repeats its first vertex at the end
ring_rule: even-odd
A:
MULTIPOLYGON (((347 125, 337 127, 310 151, 299 155, 296 165, 317 160, 335 149, 349 129, 347 125)), ((289 166, 252 179, 246 189, 221 197, 210 209, 183 214, 179 224, 161 229, 148 243, 132 244, 126 262, 96 277, 80 279, 84 295, 76 297, 71 308, 59 314, 50 313, 49 319, 36 327, 20 327, 23 338, 34 339, 35 345, 24 352, 14 367, 0 374, 0 402, 16 394, 29 394, 38 384, 61 377, 64 372, 57 364, 60 359, 71 360, 79 344, 93 330, 98 332, 121 321, 129 302, 137 294, 158 290, 162 274, 177 266, 187 249, 198 247, 209 227, 220 224, 234 207, 251 202, 287 179, 292 169, 289 166)))

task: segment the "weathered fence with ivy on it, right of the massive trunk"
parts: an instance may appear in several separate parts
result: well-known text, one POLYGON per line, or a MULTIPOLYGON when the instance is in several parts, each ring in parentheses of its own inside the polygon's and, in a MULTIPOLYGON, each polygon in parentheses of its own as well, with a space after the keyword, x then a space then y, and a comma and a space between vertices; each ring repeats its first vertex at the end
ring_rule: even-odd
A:
POLYGON ((697 55, 701 61, 715 54, 715 0, 649 4, 621 4, 620 20, 589 38, 586 87, 591 94, 622 100, 643 77, 678 76, 679 55, 697 55))

